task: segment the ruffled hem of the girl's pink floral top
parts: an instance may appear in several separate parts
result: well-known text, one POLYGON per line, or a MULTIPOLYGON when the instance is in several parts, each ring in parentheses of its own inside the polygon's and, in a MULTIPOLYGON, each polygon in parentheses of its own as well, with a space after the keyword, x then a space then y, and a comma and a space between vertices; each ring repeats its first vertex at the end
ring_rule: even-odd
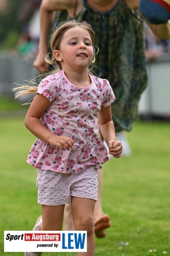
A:
POLYGON ((38 169, 73 174, 89 167, 101 169, 101 165, 109 159, 107 148, 99 138, 93 145, 74 145, 71 150, 65 151, 38 139, 30 150, 27 162, 38 169))

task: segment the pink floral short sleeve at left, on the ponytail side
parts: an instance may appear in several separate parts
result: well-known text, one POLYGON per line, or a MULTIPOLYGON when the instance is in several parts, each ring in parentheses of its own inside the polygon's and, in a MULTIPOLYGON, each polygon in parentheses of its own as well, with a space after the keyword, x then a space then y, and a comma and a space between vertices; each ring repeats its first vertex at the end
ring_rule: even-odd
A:
POLYGON ((60 82, 56 75, 49 75, 42 79, 38 87, 38 94, 45 96, 50 102, 53 102, 60 92, 60 82))

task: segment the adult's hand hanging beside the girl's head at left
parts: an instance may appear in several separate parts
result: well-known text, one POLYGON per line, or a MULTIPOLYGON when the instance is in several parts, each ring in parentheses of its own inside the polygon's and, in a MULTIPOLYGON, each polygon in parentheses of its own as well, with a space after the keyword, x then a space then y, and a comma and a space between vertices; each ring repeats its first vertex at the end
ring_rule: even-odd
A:
POLYGON ((36 56, 35 61, 33 62, 33 66, 40 71, 40 73, 44 73, 49 71, 49 64, 45 61, 45 56, 47 52, 39 52, 36 56))

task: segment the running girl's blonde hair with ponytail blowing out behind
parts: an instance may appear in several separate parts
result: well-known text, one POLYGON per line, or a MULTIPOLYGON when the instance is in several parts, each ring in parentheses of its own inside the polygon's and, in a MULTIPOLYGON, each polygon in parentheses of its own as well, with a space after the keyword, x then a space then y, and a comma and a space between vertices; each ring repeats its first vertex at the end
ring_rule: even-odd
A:
MULTIPOLYGON (((45 57, 45 61, 50 65, 56 65, 56 68, 51 72, 47 72, 46 75, 55 74, 56 72, 58 72, 62 69, 62 65, 60 64, 59 61, 56 61, 55 56, 53 55, 53 52, 55 50, 60 49, 60 45, 61 45, 64 33, 68 29, 75 28, 76 26, 79 26, 80 28, 86 29, 86 31, 89 32, 91 42, 92 42, 92 45, 93 45, 93 51, 94 51, 92 64, 95 62, 95 60, 96 60, 95 55, 98 52, 98 48, 97 48, 97 52, 96 52, 96 49, 94 48, 94 31, 93 31, 91 25, 87 24, 86 21, 77 22, 77 21, 73 20, 73 21, 61 22, 57 26, 57 28, 55 29, 55 32, 53 32, 51 40, 50 40, 50 48, 51 48, 52 53, 47 54, 46 57, 45 57)), ((91 65, 89 67, 89 72, 91 72, 91 65)), ((39 76, 42 76, 42 75, 39 75, 39 76)), ((17 88, 13 89, 13 91, 16 91, 18 89, 20 90, 19 92, 16 93, 15 98, 18 98, 19 96, 21 96, 23 94, 36 94, 36 92, 38 91, 38 84, 34 81, 30 81, 30 82, 31 82, 31 84, 36 85, 36 86, 31 86, 31 85, 25 85, 24 84, 20 87, 17 87, 17 88)))

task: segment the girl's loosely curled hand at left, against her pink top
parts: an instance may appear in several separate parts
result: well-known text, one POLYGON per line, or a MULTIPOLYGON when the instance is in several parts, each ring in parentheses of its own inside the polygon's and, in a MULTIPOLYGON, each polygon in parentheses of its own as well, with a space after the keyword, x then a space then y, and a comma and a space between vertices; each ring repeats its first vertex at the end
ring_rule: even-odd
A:
POLYGON ((66 136, 52 136, 49 139, 49 144, 52 147, 59 147, 62 150, 70 150, 72 149, 72 147, 74 146, 74 142, 73 139, 70 137, 66 137, 66 136))

